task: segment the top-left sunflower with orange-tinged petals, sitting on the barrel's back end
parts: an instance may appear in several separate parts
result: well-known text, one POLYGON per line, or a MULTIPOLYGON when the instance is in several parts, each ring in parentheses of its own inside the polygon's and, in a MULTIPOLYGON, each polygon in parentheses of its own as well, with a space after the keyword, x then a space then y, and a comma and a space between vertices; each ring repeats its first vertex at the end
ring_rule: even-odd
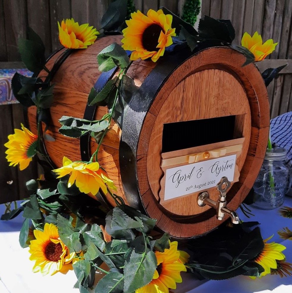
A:
POLYGON ((59 40, 65 48, 85 49, 94 43, 99 32, 88 23, 79 25, 73 18, 58 21, 59 40))

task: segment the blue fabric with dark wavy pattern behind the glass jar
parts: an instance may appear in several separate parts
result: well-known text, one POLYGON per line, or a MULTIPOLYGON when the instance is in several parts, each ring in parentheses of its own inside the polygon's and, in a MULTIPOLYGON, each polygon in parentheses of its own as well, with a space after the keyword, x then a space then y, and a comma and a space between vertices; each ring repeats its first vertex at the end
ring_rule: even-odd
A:
POLYGON ((282 114, 271 120, 271 139, 288 151, 287 159, 292 162, 292 112, 282 114))

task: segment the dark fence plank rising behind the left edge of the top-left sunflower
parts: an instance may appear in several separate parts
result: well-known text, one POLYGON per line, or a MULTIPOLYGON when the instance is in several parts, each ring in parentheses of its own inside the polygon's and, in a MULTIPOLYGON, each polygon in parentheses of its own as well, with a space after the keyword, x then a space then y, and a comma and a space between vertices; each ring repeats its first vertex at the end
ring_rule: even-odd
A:
POLYGON ((60 48, 58 21, 71 18, 70 0, 50 0, 52 51, 60 48))

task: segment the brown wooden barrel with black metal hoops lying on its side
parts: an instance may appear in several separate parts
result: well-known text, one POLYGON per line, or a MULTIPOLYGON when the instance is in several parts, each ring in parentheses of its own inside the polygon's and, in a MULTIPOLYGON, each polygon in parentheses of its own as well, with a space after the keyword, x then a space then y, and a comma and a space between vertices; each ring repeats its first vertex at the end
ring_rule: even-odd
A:
MULTIPOLYGON (((83 151, 79 139, 59 134, 58 120, 62 115, 84 117, 88 93, 101 75, 96 55, 120 40, 121 36, 102 37, 86 50, 74 51, 54 76, 50 129, 56 141, 45 145, 57 167, 62 166, 63 156, 80 160, 83 151)), ((62 51, 48 61, 48 68, 62 51)), ((98 160, 117 186, 117 194, 129 205, 145 209, 157 219, 157 227, 173 237, 200 236, 222 221, 214 209, 197 204, 207 186, 166 198, 165 164, 177 167, 196 162, 194 153, 204 157, 199 161, 208 161, 212 156, 208 158, 206 151, 210 150, 215 157, 218 150, 236 154, 234 180, 227 192, 227 207, 233 210, 247 196, 260 170, 269 133, 269 102, 258 68, 254 64, 242 67, 244 62, 244 55, 231 48, 202 45, 195 53, 185 48, 165 54, 156 63, 137 60, 128 70, 139 88, 125 108, 122 130, 112 122, 98 160), (240 150, 234 145, 240 145, 240 150)), ((95 120, 107 111, 99 106, 95 120)), ((35 116, 36 109, 30 107, 34 133, 35 116)), ((91 153, 96 147, 90 138, 91 153)), ((208 192, 217 200, 216 186, 208 192)), ((105 195, 105 200, 114 205, 110 196, 105 195)))

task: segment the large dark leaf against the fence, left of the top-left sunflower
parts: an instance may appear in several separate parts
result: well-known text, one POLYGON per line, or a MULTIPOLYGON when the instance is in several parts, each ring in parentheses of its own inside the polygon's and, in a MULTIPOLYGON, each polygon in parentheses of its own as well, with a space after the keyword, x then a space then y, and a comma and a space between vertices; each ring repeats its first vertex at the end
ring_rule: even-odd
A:
POLYGON ((38 42, 21 38, 18 41, 18 50, 27 69, 37 75, 45 66, 44 48, 38 42))

